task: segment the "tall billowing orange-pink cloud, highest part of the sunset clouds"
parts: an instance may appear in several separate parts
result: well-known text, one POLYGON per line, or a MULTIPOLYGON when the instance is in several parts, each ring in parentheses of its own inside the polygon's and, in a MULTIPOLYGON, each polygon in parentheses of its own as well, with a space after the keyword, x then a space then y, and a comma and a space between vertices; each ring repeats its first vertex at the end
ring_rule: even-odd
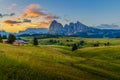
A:
POLYGON ((45 20, 48 21, 60 18, 47 12, 44 12, 43 9, 38 4, 28 5, 22 15, 22 18, 37 18, 37 17, 43 17, 45 20))

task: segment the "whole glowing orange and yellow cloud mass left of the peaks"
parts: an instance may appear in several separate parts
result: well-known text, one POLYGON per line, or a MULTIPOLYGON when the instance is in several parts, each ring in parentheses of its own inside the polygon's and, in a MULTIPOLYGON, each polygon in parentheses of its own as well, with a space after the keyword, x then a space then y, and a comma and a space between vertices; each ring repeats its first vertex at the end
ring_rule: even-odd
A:
MULTIPOLYGON (((15 4, 13 5, 15 6, 15 4)), ((9 14, 13 15, 13 14, 9 14)), ((52 14, 44 12, 40 5, 30 4, 20 16, 15 16, 15 20, 5 20, 0 28, 7 32, 19 32, 27 28, 49 28, 54 19, 58 19, 52 14), (38 19, 39 18, 39 19, 38 19), (11 27, 13 26, 13 27, 11 27)))

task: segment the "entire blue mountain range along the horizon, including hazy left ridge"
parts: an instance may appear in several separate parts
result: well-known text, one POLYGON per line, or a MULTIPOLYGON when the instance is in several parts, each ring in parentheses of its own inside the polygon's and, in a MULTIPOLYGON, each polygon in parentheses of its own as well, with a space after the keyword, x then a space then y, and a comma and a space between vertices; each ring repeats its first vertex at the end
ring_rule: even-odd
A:
MULTIPOLYGON (((87 26, 79 21, 76 23, 69 23, 63 26, 61 23, 54 20, 49 28, 28 28, 25 31, 15 33, 16 36, 32 36, 40 34, 60 35, 60 36, 78 36, 86 38, 115 38, 120 37, 120 29, 111 29, 112 27, 118 27, 117 25, 100 25, 101 29, 87 26), (101 27, 102 26, 102 27, 101 27), (110 29, 104 29, 104 26, 110 29)), ((5 31, 0 31, 1 35, 8 35, 5 31)))

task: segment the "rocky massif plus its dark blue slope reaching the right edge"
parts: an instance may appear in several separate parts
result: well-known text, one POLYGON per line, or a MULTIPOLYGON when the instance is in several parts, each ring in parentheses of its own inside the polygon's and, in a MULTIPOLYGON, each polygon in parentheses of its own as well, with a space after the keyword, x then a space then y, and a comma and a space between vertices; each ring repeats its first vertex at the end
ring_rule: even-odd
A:
POLYGON ((49 28, 49 34, 63 36, 80 36, 89 38, 114 38, 120 36, 120 30, 98 29, 89 27, 77 21, 76 23, 66 24, 64 27, 57 21, 53 21, 49 28))

